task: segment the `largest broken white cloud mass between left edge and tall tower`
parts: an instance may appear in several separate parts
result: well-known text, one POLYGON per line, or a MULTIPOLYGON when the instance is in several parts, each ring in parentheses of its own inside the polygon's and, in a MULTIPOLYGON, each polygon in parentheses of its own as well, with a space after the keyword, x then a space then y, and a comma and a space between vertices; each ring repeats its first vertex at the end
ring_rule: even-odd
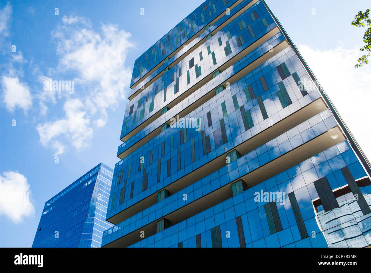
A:
MULTIPOLYGON (((48 77, 72 80, 58 78, 58 75, 73 75, 75 92, 71 96, 76 99, 69 100, 68 92, 61 95, 58 91, 58 98, 67 99, 64 105, 66 116, 37 126, 43 145, 54 147, 56 154, 63 152, 68 142, 76 148, 84 147, 93 136, 92 128, 105 125, 108 118, 106 110, 116 109, 119 102, 125 99, 125 89, 129 88, 131 69, 126 67, 125 60, 129 48, 133 46, 130 36, 115 25, 102 24, 98 33, 92 29, 88 19, 62 17, 62 24, 52 32, 58 67, 51 69, 48 77)), ((45 78, 39 77, 40 80, 45 78)), ((56 94, 42 92, 40 99, 43 103, 55 103, 56 94)), ((45 113, 46 105, 40 106, 45 113)))

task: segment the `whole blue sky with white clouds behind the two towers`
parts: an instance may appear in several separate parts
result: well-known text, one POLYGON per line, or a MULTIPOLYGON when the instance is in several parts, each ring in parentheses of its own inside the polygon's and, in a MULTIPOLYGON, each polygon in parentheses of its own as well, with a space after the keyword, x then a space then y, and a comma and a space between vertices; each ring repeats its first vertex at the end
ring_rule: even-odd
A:
MULTIPOLYGON (((371 157, 371 65, 354 68, 364 29, 350 25, 371 1, 266 2, 371 157)), ((200 4, 0 1, 0 193, 31 192, 0 201, 0 247, 30 247, 45 201, 99 162, 114 168, 135 59, 200 4), (73 94, 45 91, 48 78, 73 94)))

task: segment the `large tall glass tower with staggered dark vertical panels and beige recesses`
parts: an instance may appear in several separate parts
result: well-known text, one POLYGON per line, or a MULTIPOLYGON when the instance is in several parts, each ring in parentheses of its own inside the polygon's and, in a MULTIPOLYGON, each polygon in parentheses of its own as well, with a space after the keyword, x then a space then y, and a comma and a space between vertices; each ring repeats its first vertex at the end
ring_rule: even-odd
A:
POLYGON ((102 246, 371 244, 370 163, 264 1, 205 1, 131 88, 102 246))

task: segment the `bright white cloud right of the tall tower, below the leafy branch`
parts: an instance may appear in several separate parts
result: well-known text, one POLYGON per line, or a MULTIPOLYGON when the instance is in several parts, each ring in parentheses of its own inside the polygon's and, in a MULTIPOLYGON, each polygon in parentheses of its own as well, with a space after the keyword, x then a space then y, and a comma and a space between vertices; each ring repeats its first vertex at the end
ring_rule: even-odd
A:
POLYGON ((354 68, 362 55, 358 48, 345 49, 339 46, 321 51, 300 45, 299 51, 362 150, 371 159, 371 65, 354 68))

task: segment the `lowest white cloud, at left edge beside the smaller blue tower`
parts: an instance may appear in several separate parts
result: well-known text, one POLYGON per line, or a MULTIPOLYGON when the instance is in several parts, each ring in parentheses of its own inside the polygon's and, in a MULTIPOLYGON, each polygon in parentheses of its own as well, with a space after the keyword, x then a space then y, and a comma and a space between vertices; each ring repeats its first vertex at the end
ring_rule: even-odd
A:
POLYGON ((27 178, 16 172, 4 172, 0 175, 0 214, 6 215, 15 223, 23 217, 35 213, 31 202, 30 185, 27 178))

